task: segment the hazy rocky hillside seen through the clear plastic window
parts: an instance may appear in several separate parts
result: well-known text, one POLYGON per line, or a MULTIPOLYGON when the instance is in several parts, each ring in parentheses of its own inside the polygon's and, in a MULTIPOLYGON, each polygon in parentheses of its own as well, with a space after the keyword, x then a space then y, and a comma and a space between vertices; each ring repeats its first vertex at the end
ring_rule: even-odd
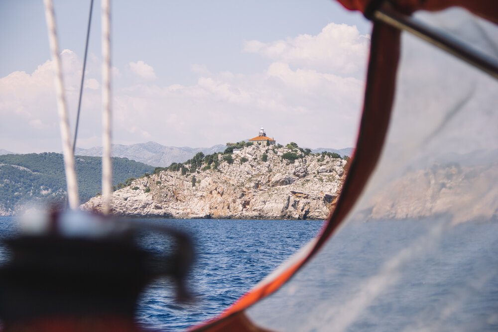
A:
POLYGON ((498 165, 434 164, 388 182, 372 198, 366 220, 448 215, 454 223, 498 220, 498 165))

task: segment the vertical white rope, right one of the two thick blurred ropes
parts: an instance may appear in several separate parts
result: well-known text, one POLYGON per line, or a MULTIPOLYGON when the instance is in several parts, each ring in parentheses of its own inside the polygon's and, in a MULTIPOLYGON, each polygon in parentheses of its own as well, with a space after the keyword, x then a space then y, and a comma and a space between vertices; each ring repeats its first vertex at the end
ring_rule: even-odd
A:
POLYGON ((111 163, 111 0, 102 0, 102 212, 110 213, 111 163))

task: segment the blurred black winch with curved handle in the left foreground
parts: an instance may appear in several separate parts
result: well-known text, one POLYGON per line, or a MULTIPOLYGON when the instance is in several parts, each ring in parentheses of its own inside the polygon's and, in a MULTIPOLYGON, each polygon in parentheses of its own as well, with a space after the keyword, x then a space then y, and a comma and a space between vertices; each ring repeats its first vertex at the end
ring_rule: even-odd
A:
POLYGON ((188 299, 193 246, 181 231, 56 210, 22 228, 4 240, 11 255, 0 268, 4 331, 140 331, 136 301, 157 277, 173 278, 178 299, 188 299), (170 235, 172 252, 139 248, 139 229, 170 235))

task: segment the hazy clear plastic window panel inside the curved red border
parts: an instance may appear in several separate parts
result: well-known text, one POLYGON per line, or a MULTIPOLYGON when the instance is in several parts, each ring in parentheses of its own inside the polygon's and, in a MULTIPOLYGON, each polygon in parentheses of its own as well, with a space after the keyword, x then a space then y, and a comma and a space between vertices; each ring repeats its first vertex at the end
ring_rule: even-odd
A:
MULTIPOLYGON (((415 17, 498 60, 496 25, 461 8, 415 17)), ((366 189, 339 232, 246 310, 253 325, 498 330, 498 82, 405 32, 399 61, 366 189)))

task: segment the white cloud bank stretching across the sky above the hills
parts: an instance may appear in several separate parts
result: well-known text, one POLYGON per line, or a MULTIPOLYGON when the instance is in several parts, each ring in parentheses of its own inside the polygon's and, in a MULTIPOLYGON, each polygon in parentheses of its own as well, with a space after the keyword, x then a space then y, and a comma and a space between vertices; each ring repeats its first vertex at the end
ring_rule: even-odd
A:
MULTIPOLYGON (((247 42, 246 51, 273 59, 264 70, 250 74, 213 72, 194 64, 191 71, 197 74, 197 82, 162 86, 148 81, 136 84, 123 75, 120 88, 113 92, 114 140, 211 146, 252 137, 263 124, 280 143, 353 146, 367 46, 368 38, 360 36, 356 27, 329 24, 316 36, 247 42), (342 47, 345 50, 336 49, 342 47)), ((74 114, 81 60, 69 50, 63 51, 62 58, 69 111, 74 114)), ((47 61, 32 74, 14 72, 0 78, 2 148, 60 151, 51 66, 47 61), (33 127, 38 128, 36 132, 33 127)), ((128 66, 141 78, 155 78, 153 68, 143 61, 128 66)), ((90 57, 78 137, 81 147, 101 144, 100 68, 99 59, 90 57)))

